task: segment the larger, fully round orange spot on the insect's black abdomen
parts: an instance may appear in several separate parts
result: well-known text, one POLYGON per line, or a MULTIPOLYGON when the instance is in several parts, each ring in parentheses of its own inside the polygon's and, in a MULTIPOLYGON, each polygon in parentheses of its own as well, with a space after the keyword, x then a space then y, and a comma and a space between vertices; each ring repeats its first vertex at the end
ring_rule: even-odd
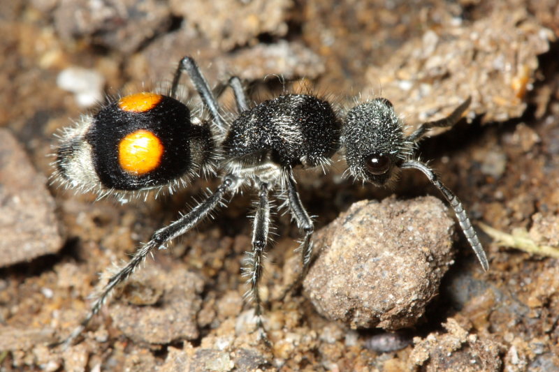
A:
POLYGON ((118 162, 126 172, 142 175, 159 167, 163 152, 164 146, 157 135, 139 129, 120 141, 118 162))

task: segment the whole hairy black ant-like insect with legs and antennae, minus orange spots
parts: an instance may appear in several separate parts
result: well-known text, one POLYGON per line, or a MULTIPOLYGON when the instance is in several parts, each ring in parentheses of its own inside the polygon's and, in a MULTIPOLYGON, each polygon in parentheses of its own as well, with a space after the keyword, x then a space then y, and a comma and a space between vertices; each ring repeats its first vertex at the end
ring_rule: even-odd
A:
MULTIPOLYGON (((150 241, 140 246, 133 258, 110 276, 87 317, 66 339, 66 345, 82 332, 115 286, 125 281, 147 255, 193 228, 220 205, 226 205, 226 195, 234 195, 243 185, 250 186, 258 195, 253 220, 252 252, 248 254, 247 266, 243 271, 250 285, 248 294, 252 295, 256 304, 256 324, 266 341, 259 283, 270 232, 270 209, 273 207, 269 200, 270 192, 277 189, 281 191, 289 213, 303 233, 300 241, 303 269, 298 281, 293 283, 294 287, 303 280, 310 267, 314 226, 301 203, 293 168, 297 165, 327 165, 340 148, 349 166, 349 174, 363 183, 370 181, 377 186, 388 186, 399 169, 423 172, 449 201, 482 267, 488 268, 484 250, 460 200, 442 184, 428 165, 414 158, 416 142, 428 129, 456 124, 470 105, 470 98, 449 117, 423 123, 414 133, 406 136, 402 121, 398 119, 391 103, 384 98, 356 105, 341 121, 330 103, 307 94, 284 94, 249 108, 238 78, 233 77, 229 84, 235 94, 239 114, 228 126, 208 83, 191 57, 184 57, 180 61, 170 96, 175 96, 183 73, 190 76, 205 108, 211 114, 211 131, 205 124, 193 125, 185 105, 174 98, 164 97, 151 110, 140 114, 124 112, 113 103, 94 117, 91 126, 86 125, 89 121, 84 121, 81 126, 69 130, 62 139, 57 161, 60 179, 67 186, 81 187, 84 191, 93 189, 89 184, 96 179, 101 179, 106 188, 121 190, 142 190, 168 184, 185 173, 196 175, 198 170, 216 161, 217 153, 223 155, 217 163, 221 184, 187 214, 154 232, 150 241), (149 129, 161 139, 165 154, 160 166, 152 172, 132 177, 119 169, 117 147, 125 135, 140 128, 149 129), (84 136, 87 137, 87 146, 80 142, 84 136), (224 140, 217 144, 216 150, 214 139, 220 138, 224 140), (88 146, 91 147, 89 152, 88 146), (90 163, 94 163, 95 172, 87 168, 90 163)), ((100 191, 105 190, 101 188, 100 191)))

